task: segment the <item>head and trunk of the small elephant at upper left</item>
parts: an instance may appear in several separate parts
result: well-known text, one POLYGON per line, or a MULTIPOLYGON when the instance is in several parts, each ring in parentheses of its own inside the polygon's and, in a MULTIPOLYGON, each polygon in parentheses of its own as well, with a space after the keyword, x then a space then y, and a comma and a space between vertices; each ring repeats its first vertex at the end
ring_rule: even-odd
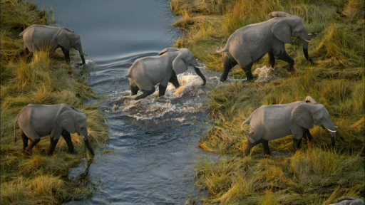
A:
POLYGON ((85 58, 83 57, 83 47, 81 46, 81 38, 80 36, 71 31, 69 28, 63 28, 60 33, 58 33, 56 37, 56 41, 58 45, 62 46, 63 48, 66 48, 67 50, 70 50, 71 48, 74 48, 80 53, 81 60, 83 61, 83 64, 85 65, 85 58))

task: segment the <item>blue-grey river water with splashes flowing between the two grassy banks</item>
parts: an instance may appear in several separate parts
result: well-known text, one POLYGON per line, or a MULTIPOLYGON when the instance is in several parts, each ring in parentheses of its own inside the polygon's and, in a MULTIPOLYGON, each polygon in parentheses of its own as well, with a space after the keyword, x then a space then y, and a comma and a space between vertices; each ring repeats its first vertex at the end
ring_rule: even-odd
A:
MULTIPOLYGON (((189 68, 178 75, 182 86, 168 85, 164 98, 157 98, 158 92, 138 101, 125 98, 130 87, 124 76, 135 59, 157 56, 174 43, 168 1, 34 2, 53 6, 56 23, 80 34, 89 85, 106 98, 101 110, 110 142, 96 150, 89 167, 84 163, 70 172, 71 179, 88 174, 96 191, 69 204, 185 204, 197 196, 194 166, 200 157, 210 157, 197 146, 207 130, 207 86, 189 68)), ((207 84, 217 84, 217 73, 202 73, 207 84)))

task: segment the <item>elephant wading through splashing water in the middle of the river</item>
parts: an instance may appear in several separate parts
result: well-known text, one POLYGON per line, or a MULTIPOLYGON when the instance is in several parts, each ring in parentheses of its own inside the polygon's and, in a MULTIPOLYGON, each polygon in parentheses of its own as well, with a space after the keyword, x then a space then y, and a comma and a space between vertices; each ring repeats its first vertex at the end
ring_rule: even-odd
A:
POLYGON ((173 83, 175 88, 179 88, 178 74, 184 73, 187 66, 192 65, 195 73, 202 78, 203 84, 206 81, 204 75, 200 72, 195 57, 187 48, 165 48, 158 53, 158 56, 138 58, 130 66, 127 75, 130 82, 131 95, 137 95, 138 90, 143 94, 135 97, 135 100, 146 98, 148 95, 155 93, 155 85, 158 86, 158 96, 165 95, 168 83, 173 83))

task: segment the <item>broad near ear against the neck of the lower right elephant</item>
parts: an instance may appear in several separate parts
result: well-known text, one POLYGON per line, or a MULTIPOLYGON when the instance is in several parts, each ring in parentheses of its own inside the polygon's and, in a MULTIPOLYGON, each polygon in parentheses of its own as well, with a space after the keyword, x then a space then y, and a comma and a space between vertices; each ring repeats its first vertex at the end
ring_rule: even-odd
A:
POLYGON ((314 122, 308 106, 310 106, 310 104, 302 103, 295 107, 292 111, 292 120, 304 128, 312 129, 314 127, 314 122))

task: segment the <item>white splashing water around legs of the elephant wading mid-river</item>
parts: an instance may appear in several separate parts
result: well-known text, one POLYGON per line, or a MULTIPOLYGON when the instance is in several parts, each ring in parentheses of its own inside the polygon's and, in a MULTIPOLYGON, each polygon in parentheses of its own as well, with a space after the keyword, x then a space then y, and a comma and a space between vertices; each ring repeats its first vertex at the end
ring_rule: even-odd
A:
MULTIPOLYGON (((157 89, 153 95, 140 100, 131 99, 130 91, 115 92, 113 93, 114 98, 115 95, 120 97, 115 100, 112 112, 122 110, 127 112, 129 117, 133 117, 136 120, 152 120, 164 115, 173 115, 173 113, 185 114, 200 111, 202 103, 200 100, 196 100, 196 98, 200 98, 200 95, 204 93, 202 90, 202 79, 195 73, 181 73, 178 75, 178 80, 180 88, 176 89, 169 83, 165 95, 162 97, 158 97, 158 86, 156 86, 157 89), (181 100, 178 100, 178 98, 181 98, 181 100), (183 98, 187 98, 187 100, 183 98)), ((140 94, 138 92, 137 95, 140 94)), ((183 122, 185 117, 173 115, 173 117, 159 120, 183 122)))

